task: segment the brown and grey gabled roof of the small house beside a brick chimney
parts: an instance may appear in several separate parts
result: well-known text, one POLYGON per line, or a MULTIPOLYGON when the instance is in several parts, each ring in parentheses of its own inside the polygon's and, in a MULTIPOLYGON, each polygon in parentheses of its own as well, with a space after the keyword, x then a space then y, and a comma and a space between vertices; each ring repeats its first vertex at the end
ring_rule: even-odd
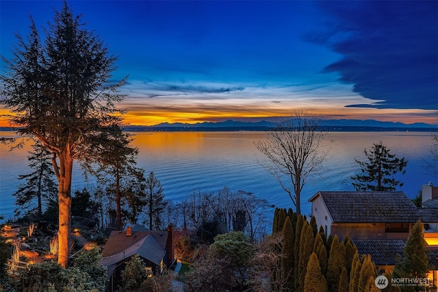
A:
POLYGON ((138 254, 142 258, 159 265, 166 255, 167 231, 113 231, 103 247, 101 265, 105 265, 111 275, 116 265, 138 254))

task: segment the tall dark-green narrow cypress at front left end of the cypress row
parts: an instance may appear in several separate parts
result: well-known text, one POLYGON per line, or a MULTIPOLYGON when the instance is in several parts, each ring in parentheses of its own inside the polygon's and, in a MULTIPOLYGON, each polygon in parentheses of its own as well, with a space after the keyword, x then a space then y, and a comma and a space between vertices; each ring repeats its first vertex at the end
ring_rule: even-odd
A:
POLYGON ((292 287, 294 282, 292 276, 294 275, 294 230, 290 217, 287 216, 283 225, 283 247, 281 248, 281 273, 283 279, 287 278, 287 287, 292 287))

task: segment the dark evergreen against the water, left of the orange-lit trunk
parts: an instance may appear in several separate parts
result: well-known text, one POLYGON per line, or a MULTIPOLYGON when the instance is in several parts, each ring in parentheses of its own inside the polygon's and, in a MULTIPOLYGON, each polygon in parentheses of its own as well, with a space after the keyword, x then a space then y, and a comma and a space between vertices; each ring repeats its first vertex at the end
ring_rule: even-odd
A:
POLYGON ((57 185, 51 162, 53 154, 40 141, 36 141, 33 148, 34 151, 29 151, 27 157, 32 171, 18 175, 18 180, 26 180, 26 183, 20 184, 18 190, 12 194, 16 197, 15 204, 18 206, 14 213, 16 216, 36 215, 41 218, 43 204, 56 202, 57 185))

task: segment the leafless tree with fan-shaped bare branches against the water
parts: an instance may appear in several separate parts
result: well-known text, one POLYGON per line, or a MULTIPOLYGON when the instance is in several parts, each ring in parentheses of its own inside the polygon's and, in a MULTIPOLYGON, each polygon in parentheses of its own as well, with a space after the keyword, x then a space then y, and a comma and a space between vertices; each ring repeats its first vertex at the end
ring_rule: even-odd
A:
POLYGON ((323 162, 329 159, 330 148, 322 145, 327 132, 320 129, 321 124, 320 117, 296 111, 290 119, 279 121, 266 132, 264 141, 255 143, 267 158, 258 160, 259 164, 280 183, 298 215, 302 188, 324 170, 323 162))

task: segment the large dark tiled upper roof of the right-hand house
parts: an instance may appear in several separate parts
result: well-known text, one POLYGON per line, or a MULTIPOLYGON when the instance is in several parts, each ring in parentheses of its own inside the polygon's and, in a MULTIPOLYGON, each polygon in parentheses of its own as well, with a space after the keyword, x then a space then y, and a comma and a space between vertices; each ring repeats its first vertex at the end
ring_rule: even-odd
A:
POLYGON ((403 192, 320 191, 333 223, 413 223, 420 212, 403 192))

